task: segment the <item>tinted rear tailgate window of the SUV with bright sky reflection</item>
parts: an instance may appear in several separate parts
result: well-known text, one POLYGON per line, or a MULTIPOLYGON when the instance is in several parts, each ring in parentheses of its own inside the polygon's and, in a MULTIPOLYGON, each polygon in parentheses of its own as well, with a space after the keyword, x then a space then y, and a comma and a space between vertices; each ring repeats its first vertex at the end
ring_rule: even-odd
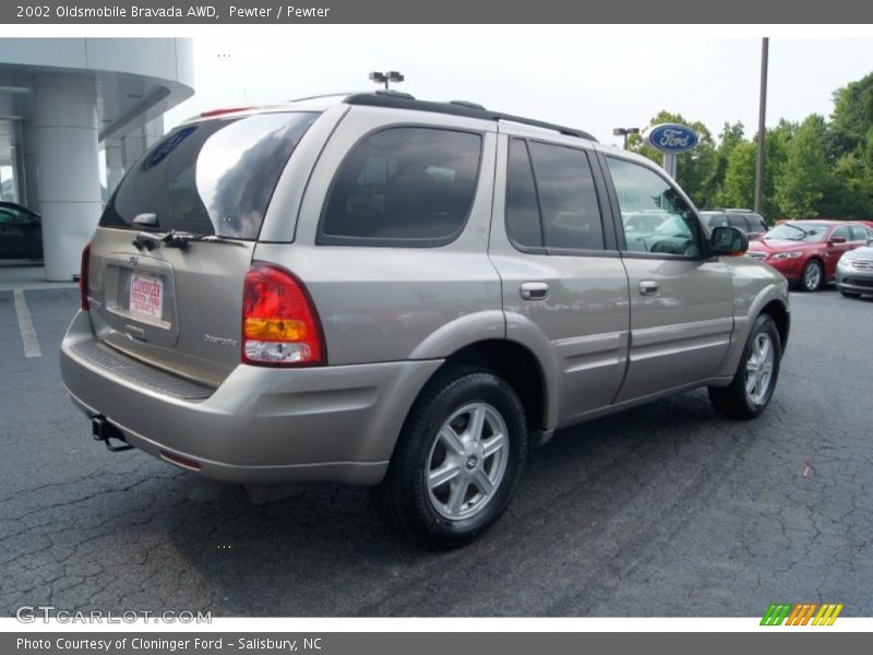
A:
POLYGON ((121 180, 100 218, 131 227, 155 214, 160 230, 256 239, 276 182, 318 114, 258 114, 182 126, 121 180))

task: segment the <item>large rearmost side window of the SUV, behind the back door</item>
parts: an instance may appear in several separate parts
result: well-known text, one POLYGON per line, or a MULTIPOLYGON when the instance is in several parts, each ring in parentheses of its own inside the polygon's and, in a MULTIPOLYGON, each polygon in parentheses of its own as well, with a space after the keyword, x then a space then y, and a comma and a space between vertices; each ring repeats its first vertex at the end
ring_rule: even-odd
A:
POLYGON ((482 138, 391 128, 352 148, 334 179, 320 243, 440 246, 461 234, 473 205, 482 138))

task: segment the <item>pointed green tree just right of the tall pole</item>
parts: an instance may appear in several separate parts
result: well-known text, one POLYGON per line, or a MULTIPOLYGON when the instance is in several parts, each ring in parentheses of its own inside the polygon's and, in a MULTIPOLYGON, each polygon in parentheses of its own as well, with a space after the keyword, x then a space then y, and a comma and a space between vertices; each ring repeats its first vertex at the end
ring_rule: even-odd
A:
POLYGON ((825 119, 808 116, 788 142, 782 175, 776 183, 776 200, 791 218, 815 218, 828 214, 836 191, 826 155, 825 119))

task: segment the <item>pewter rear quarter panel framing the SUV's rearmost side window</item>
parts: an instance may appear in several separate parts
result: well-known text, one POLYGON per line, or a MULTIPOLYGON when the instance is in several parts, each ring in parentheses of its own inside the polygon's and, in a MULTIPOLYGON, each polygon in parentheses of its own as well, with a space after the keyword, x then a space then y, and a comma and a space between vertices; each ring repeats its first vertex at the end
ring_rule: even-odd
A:
MULTIPOLYGON (((261 242, 254 253, 303 281, 321 319, 330 365, 440 358, 505 335, 500 277, 487 254, 495 148, 494 127, 487 121, 370 107, 346 114, 309 177, 296 235, 283 235, 294 243, 261 242), (349 150, 374 130, 399 126, 482 135, 478 184, 464 231, 439 248, 315 246, 325 198, 349 150)), ((290 203, 284 210, 288 223, 294 209, 290 203)), ((270 212, 273 218, 283 207, 271 204, 270 212)), ((271 229, 279 234, 275 225, 271 229)))

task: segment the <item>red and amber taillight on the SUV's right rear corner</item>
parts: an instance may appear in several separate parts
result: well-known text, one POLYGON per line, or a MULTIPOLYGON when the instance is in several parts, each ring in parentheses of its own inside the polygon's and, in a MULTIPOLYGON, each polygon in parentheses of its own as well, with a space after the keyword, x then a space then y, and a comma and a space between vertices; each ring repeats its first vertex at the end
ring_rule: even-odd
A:
POLYGON ((324 364, 324 338, 312 299, 278 266, 255 262, 242 287, 242 361, 256 366, 324 364))

